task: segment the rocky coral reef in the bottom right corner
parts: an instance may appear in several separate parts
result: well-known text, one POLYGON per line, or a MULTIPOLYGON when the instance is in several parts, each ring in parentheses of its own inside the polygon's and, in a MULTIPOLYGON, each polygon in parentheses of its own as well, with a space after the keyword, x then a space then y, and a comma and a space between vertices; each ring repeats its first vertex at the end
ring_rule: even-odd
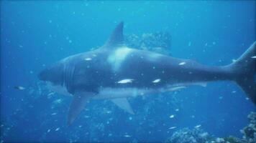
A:
POLYGON ((172 137, 168 138, 167 143, 255 143, 256 142, 256 112, 251 112, 248 115, 250 124, 241 130, 243 134, 242 139, 237 137, 214 137, 208 132, 204 132, 202 129, 180 129, 173 133, 172 137))

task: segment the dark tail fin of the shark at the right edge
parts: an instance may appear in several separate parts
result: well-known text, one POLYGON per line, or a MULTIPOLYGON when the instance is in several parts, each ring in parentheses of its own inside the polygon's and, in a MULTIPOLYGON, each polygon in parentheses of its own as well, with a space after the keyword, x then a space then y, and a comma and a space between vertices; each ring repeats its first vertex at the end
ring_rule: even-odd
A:
POLYGON ((242 56, 227 66, 234 75, 234 81, 242 87, 247 96, 256 104, 256 41, 242 56))

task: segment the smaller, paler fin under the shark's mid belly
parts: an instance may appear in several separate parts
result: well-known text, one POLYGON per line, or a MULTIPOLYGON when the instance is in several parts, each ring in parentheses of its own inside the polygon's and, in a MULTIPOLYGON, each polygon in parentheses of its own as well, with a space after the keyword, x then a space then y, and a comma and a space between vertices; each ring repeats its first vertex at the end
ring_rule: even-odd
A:
POLYGON ((114 102, 114 104, 116 104, 119 108, 124 109, 124 111, 128 112, 129 114, 134 114, 132 107, 126 98, 111 99, 111 102, 114 102))

